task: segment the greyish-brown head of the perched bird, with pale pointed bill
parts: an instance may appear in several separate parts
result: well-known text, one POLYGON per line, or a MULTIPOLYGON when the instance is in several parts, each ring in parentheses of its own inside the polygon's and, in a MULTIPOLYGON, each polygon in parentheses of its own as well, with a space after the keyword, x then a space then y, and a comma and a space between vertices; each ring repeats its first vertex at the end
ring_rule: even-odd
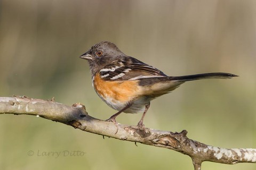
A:
POLYGON ((126 56, 117 48, 114 43, 102 41, 91 47, 86 53, 80 56, 89 62, 92 75, 97 73, 106 65, 115 61, 119 56, 126 56))

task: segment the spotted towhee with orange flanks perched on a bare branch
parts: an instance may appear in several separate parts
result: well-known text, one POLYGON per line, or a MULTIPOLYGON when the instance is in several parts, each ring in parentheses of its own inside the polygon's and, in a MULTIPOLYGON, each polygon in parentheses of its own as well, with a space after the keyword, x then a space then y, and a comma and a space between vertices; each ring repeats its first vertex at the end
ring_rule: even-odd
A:
POLYGON ((143 112, 138 126, 143 126, 150 101, 171 92, 180 84, 199 79, 229 79, 230 73, 204 73, 169 77, 153 66, 125 55, 115 44, 103 41, 80 58, 89 62, 92 84, 105 103, 118 112, 107 121, 116 123, 120 113, 143 112))

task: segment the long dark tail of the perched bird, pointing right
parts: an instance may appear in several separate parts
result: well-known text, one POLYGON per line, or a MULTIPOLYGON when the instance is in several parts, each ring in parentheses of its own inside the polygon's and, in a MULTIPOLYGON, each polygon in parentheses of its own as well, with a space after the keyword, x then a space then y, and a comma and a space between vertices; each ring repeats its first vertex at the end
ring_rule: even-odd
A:
POLYGON ((194 75, 183 75, 178 77, 169 77, 172 81, 192 81, 200 79, 230 79, 233 77, 238 77, 238 75, 230 73, 204 73, 204 74, 194 74, 194 75))

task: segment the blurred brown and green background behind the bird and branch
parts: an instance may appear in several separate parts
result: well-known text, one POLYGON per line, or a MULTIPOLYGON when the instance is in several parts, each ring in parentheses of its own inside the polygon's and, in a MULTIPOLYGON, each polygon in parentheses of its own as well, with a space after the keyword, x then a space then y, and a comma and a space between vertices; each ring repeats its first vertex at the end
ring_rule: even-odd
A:
MULTIPOLYGON (((116 111, 95 94, 79 58, 103 40, 167 75, 239 75, 183 84, 153 100, 144 123, 186 129, 207 145, 256 148, 256 1, 2 0, 0 96, 81 102, 106 120, 116 111)), ((103 139, 35 116, 0 117, 0 169, 193 169, 188 156, 172 150, 103 139)), ((135 125, 140 117, 121 114, 117 121, 135 125)), ((242 168, 256 165, 203 163, 203 169, 242 168)))

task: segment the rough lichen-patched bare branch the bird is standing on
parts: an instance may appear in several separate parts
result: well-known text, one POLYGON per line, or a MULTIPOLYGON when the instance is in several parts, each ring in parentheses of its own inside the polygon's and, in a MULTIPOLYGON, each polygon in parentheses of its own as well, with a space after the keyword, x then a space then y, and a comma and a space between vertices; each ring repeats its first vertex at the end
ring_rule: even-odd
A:
POLYGON ((204 161, 222 164, 255 163, 256 149, 224 149, 205 145, 187 138, 187 131, 169 132, 149 128, 139 128, 98 120, 89 116, 80 103, 67 106, 52 100, 28 97, 0 97, 0 114, 27 114, 40 116, 64 123, 86 132, 120 140, 140 142, 145 145, 172 149, 191 157, 194 168, 201 169, 204 161))

